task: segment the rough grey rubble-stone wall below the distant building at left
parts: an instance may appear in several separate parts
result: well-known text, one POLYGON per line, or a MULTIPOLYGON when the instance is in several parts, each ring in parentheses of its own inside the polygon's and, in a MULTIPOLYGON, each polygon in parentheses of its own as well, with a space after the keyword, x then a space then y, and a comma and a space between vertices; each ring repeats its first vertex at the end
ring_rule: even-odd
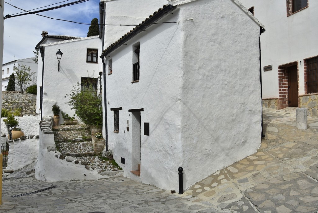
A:
POLYGON ((16 110, 21 107, 21 115, 36 114, 37 95, 21 94, 20 91, 2 92, 2 109, 16 110))

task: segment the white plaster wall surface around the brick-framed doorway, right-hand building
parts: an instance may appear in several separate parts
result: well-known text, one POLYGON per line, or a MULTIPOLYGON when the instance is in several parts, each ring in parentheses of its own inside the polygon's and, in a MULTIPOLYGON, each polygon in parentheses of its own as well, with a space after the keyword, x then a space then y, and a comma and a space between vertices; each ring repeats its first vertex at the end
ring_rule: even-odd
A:
POLYGON ((303 59, 318 55, 318 2, 287 17, 286 1, 239 0, 246 8, 254 6, 254 15, 266 26, 261 35, 262 69, 273 64, 273 70, 262 72, 263 98, 278 98, 278 66, 299 63, 299 95, 304 91, 303 59))

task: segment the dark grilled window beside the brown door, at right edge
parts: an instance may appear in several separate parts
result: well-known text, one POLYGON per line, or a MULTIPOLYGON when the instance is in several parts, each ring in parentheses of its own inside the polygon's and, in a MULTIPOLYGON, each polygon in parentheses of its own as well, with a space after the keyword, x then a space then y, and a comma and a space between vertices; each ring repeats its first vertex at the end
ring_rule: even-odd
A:
POLYGON ((318 93, 318 57, 307 59, 306 63, 307 93, 318 93))

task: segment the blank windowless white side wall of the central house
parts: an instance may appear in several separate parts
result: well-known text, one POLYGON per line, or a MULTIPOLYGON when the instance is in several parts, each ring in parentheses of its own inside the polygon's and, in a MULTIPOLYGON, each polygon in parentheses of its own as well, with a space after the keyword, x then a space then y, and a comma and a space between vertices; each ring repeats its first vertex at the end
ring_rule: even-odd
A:
POLYGON ((189 188, 260 145, 259 25, 224 0, 180 5, 180 19, 185 34, 180 166, 189 188))

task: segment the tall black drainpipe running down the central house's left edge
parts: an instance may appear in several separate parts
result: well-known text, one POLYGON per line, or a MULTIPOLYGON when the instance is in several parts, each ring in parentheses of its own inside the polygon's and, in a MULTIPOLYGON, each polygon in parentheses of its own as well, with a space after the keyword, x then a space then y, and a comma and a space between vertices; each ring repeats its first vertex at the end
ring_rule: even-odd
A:
MULTIPOLYGON (((102 51, 104 50, 104 40, 105 40, 105 19, 106 19, 106 10, 105 10, 105 2, 100 2, 101 10, 103 11, 103 35, 102 35, 102 51)), ((104 57, 101 58, 101 61, 103 63, 103 94, 104 94, 104 110, 105 110, 105 147, 106 151, 108 151, 108 125, 107 125, 107 96, 106 96, 106 65, 104 61, 104 57)))

